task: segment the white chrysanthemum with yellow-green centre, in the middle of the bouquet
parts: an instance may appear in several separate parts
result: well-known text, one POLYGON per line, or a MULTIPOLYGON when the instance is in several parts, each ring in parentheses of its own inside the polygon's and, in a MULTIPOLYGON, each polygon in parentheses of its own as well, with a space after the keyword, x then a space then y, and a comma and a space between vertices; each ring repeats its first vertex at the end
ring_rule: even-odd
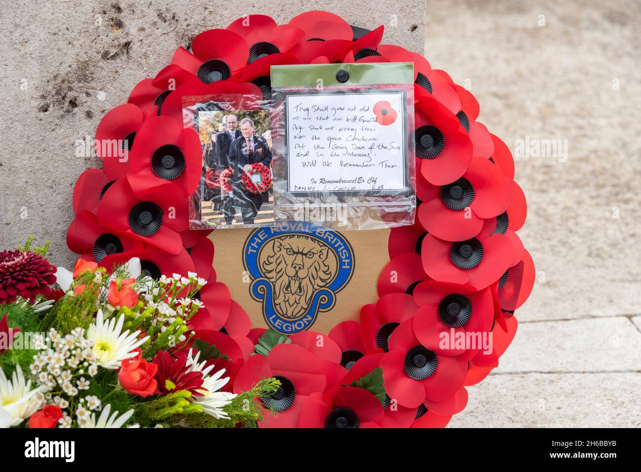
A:
POLYGON ((105 369, 118 369, 122 359, 131 357, 131 351, 149 339, 146 336, 138 339, 140 331, 129 334, 129 330, 121 333, 124 315, 118 317, 118 321, 110 319, 103 321, 103 310, 98 310, 96 322, 89 326, 87 339, 94 342, 94 355, 98 366, 105 369))

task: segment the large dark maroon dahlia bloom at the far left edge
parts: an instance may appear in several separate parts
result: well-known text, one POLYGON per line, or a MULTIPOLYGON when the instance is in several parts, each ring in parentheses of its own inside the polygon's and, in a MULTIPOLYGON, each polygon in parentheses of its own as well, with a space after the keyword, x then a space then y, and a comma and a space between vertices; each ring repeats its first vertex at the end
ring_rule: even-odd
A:
POLYGON ((47 295, 49 283, 56 282, 56 267, 33 251, 0 253, 0 305, 17 297, 33 303, 39 294, 47 295))

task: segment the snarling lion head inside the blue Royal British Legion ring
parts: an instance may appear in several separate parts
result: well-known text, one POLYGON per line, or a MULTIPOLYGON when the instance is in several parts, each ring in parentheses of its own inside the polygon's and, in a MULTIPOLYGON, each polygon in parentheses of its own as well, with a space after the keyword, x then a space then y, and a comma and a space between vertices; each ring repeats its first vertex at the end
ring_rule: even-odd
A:
POLYGON ((327 244, 292 234, 274 238, 263 247, 261 273, 274 287, 274 307, 288 319, 306 314, 314 292, 336 276, 338 260, 327 244))

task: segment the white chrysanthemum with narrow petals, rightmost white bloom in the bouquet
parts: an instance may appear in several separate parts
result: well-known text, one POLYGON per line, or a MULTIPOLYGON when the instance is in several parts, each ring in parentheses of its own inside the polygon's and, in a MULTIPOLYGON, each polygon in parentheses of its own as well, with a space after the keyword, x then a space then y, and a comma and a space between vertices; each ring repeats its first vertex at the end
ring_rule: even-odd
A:
POLYGON ((219 390, 229 382, 229 377, 221 378, 225 373, 225 369, 219 370, 214 375, 209 375, 214 366, 203 368, 206 361, 198 364, 199 357, 200 353, 196 353, 196 356, 192 357, 192 350, 189 350, 187 362, 185 363, 187 367, 189 367, 189 372, 203 373, 203 385, 198 389, 198 392, 203 394, 203 396, 192 396, 190 400, 196 403, 196 405, 201 405, 204 413, 216 419, 228 418, 229 415, 222 407, 229 405, 231 400, 236 398, 237 395, 229 392, 219 392, 219 390))

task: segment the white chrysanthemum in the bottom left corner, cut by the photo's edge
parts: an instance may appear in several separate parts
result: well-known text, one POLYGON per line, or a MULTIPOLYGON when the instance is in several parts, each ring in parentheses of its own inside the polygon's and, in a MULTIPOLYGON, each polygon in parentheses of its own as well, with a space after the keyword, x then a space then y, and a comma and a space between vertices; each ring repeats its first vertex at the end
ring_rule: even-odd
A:
POLYGON ((8 380, 0 369, 0 407, 11 415, 10 426, 17 426, 40 408, 38 393, 47 391, 44 385, 31 390, 31 380, 26 380, 20 366, 15 366, 12 379, 8 380))

